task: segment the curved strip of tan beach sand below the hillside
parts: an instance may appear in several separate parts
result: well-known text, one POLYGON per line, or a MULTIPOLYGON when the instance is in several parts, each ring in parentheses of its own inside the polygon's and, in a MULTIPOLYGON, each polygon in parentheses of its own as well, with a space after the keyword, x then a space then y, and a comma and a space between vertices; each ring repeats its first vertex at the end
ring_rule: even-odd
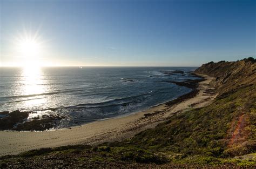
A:
POLYGON ((96 145, 107 141, 131 138, 143 130, 155 127, 175 113, 203 107, 211 103, 217 95, 207 92, 207 89, 212 89, 208 84, 213 78, 205 75, 200 76, 206 80, 199 83, 197 95, 172 106, 161 104, 126 117, 95 121, 71 129, 43 132, 0 131, 0 156, 18 154, 38 148, 75 144, 96 145), (144 116, 148 113, 151 115, 144 116))

